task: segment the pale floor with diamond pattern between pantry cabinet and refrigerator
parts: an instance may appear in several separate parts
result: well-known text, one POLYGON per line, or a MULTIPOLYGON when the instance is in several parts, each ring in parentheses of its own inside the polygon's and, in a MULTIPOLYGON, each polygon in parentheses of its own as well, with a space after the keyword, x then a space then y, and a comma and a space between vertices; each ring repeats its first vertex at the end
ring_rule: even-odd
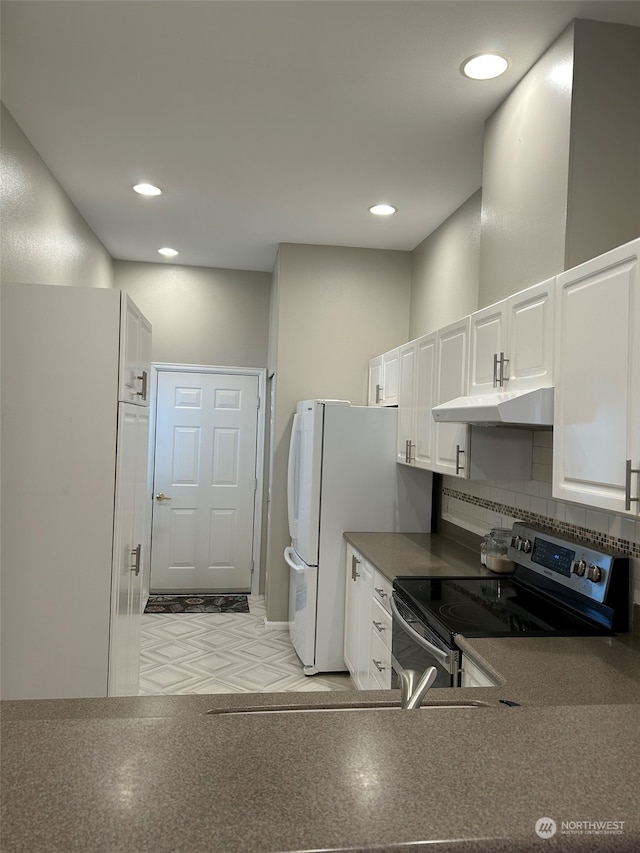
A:
POLYGON ((306 676, 288 631, 266 628, 264 598, 250 613, 145 613, 140 695, 348 690, 347 673, 306 676))

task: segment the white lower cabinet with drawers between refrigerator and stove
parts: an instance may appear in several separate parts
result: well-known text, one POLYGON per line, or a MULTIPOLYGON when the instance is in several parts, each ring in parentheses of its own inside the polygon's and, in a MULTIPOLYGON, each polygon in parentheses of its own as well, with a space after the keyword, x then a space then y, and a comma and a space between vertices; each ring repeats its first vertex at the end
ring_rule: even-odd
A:
POLYGON ((347 544, 344 662, 358 690, 391 687, 391 582, 347 544))

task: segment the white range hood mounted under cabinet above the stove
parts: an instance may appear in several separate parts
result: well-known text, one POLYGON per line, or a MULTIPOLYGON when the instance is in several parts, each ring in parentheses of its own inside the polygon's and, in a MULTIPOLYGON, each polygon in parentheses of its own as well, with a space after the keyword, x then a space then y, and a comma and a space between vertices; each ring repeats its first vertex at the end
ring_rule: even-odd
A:
POLYGON ((431 411, 439 423, 549 427, 553 426, 553 388, 456 397, 431 411))

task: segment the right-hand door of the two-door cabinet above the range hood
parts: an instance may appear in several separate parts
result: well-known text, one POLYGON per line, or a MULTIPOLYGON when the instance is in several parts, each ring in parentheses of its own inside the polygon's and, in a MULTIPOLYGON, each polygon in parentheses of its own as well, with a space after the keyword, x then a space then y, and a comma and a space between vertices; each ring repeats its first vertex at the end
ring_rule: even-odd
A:
POLYGON ((528 287, 507 300, 505 343, 509 391, 553 385, 555 278, 528 287))

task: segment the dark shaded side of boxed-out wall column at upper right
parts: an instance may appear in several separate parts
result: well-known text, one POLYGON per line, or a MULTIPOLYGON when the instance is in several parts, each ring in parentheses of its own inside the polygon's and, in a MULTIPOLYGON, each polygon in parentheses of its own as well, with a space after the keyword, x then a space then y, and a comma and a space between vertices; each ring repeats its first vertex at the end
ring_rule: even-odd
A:
POLYGON ((640 27, 575 23, 565 268, 640 235, 640 27))

